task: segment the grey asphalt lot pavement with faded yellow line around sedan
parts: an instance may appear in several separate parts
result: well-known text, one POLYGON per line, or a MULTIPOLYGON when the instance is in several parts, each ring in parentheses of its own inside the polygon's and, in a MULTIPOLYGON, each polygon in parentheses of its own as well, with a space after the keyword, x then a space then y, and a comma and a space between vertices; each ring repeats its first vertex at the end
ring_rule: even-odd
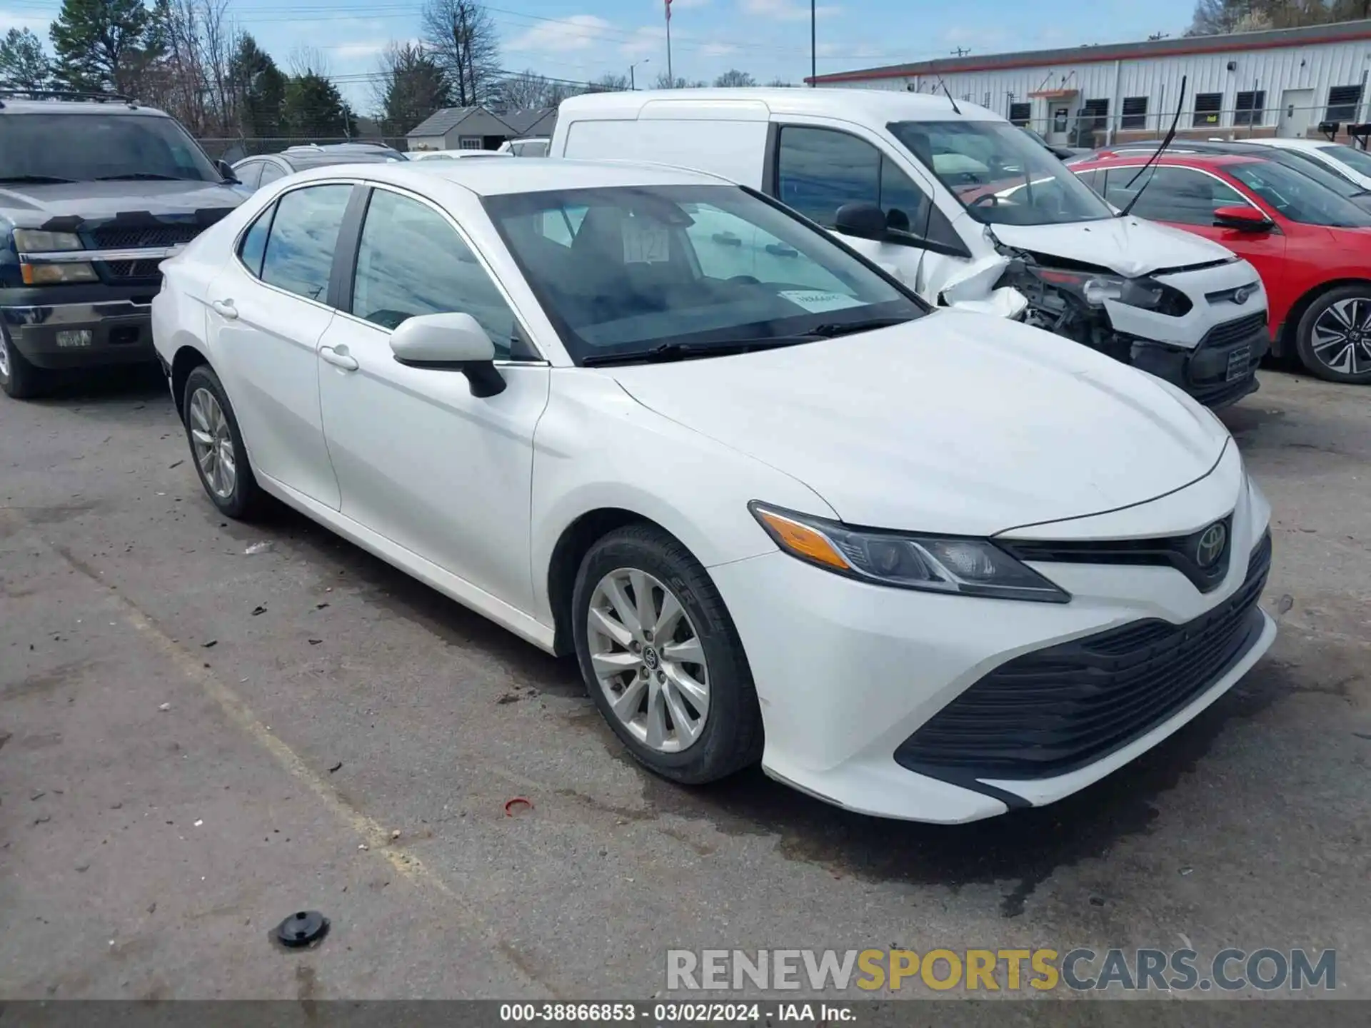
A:
POLYGON ((668 949, 1230 944, 1337 949, 1371 996, 1371 392, 1261 380, 1224 419, 1275 511, 1272 651, 1093 788, 960 828, 654 779, 572 662, 291 511, 221 518, 155 373, 0 402, 0 998, 646 999, 668 949), (330 932, 285 953, 302 909, 330 932))

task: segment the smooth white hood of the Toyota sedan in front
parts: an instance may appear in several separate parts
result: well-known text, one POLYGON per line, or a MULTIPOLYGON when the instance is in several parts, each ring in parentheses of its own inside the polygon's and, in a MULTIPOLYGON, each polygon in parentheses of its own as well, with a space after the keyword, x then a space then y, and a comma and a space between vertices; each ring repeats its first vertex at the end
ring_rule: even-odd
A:
POLYGON ((990 536, 1117 510, 1202 478, 1228 441, 1150 376, 983 314, 602 373, 869 528, 990 536))

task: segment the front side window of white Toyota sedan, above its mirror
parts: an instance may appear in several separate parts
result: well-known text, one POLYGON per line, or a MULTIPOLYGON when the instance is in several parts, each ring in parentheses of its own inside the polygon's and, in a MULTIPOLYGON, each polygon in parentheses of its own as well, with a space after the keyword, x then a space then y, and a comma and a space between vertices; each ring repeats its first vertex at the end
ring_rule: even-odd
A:
POLYGON ((356 252, 352 314, 393 329, 415 314, 470 314, 495 355, 528 355, 514 314, 470 247, 428 204, 385 189, 372 193, 356 252))

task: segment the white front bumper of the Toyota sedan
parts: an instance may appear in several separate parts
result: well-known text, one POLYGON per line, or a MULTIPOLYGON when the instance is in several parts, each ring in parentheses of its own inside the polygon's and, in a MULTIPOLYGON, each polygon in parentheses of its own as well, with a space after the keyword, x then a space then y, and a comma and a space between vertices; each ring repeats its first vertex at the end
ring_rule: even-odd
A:
MULTIPOLYGON (((1245 584, 1250 589, 1249 559, 1267 530, 1270 507, 1245 478, 1222 506, 1215 503, 1213 484, 1204 481, 1153 503, 1172 517, 1186 507, 1191 489, 1190 510, 1182 514, 1190 530, 1233 515, 1228 573, 1208 593, 1179 570, 1160 566, 1035 562, 1072 593, 1067 604, 868 585, 781 552, 712 567, 757 684, 766 735, 764 769, 860 813, 961 822, 1052 803, 1156 746, 1257 662, 1275 637, 1275 622, 1249 607, 1243 615, 1250 633, 1224 654, 1222 666, 1209 666, 1185 695, 1154 705, 1087 762, 1043 763, 1047 777, 1010 779, 997 770, 1002 765, 987 765, 986 773, 968 765, 946 774, 897 761, 919 729, 1016 658, 1143 621, 1189 626, 1239 598, 1245 584)), ((1101 528, 1116 524, 1111 518, 1082 518, 1072 522, 1072 532, 1101 537, 1101 528)))

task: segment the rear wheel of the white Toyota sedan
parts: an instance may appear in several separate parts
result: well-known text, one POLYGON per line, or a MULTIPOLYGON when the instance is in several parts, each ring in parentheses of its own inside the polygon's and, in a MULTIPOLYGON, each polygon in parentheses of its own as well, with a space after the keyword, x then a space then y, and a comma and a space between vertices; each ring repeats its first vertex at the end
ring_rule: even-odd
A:
POLYGON ((185 437, 206 495, 230 518, 251 517, 265 498, 223 384, 208 365, 200 365, 186 376, 184 397, 185 437))

